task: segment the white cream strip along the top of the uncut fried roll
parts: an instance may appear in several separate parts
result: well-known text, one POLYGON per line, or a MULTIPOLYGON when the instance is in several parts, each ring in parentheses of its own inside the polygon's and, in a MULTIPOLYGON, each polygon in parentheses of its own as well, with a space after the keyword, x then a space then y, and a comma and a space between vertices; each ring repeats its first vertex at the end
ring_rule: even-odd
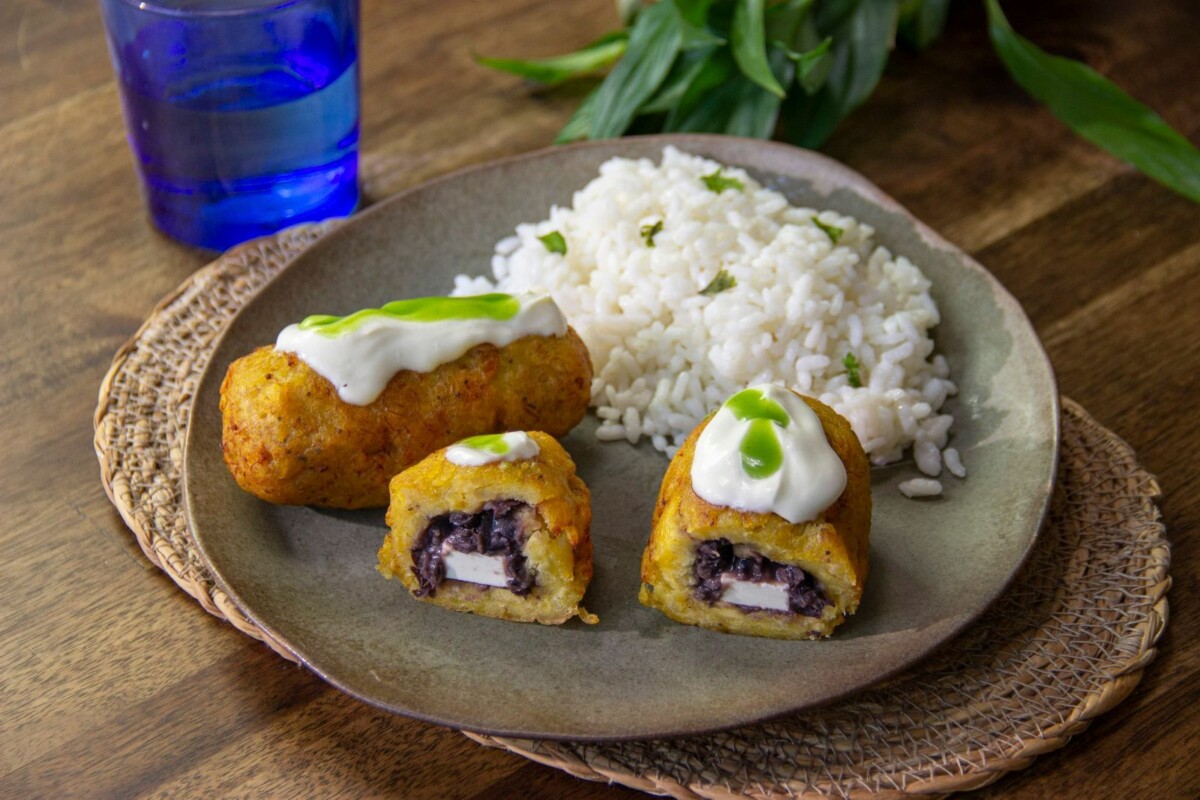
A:
POLYGON ((517 295, 521 309, 509 319, 412 321, 385 315, 328 336, 288 325, 276 350, 295 353, 337 387, 352 405, 370 405, 401 369, 430 372, 479 344, 505 347, 526 336, 563 336, 566 318, 548 295, 517 295))

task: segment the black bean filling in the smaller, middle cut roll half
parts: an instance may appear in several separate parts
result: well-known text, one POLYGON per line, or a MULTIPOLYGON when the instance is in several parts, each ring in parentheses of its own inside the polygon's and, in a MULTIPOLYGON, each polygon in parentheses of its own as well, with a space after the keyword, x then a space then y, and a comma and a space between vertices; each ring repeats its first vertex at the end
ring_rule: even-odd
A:
POLYGON ((529 509, 520 500, 492 500, 479 513, 456 511, 430 521, 430 527, 416 539, 413 548, 413 575, 420 583, 418 597, 432 597, 446 578, 442 557, 449 543, 458 553, 482 553, 504 559, 506 588, 515 595, 527 595, 533 588, 533 576, 526 563, 522 546, 529 536, 522 513, 529 509))

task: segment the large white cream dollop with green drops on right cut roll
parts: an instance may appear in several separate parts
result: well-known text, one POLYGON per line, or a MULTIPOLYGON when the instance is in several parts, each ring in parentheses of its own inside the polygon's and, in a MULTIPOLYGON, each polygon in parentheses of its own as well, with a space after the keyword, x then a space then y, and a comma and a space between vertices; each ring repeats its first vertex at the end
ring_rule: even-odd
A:
POLYGON ((815 519, 846 488, 846 467, 829 446, 820 417, 798 395, 774 384, 750 389, 782 407, 787 425, 738 419, 726 401, 696 443, 692 491, 713 505, 778 513, 791 523, 815 519), (762 477, 751 477, 743 461, 743 440, 752 423, 760 429, 770 426, 782 455, 779 468, 762 477))

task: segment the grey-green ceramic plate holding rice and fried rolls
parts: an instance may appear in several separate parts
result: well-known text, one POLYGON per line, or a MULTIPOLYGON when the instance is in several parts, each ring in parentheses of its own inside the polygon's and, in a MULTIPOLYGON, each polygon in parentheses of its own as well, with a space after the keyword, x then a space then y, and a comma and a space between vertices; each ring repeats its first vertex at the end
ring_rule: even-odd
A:
POLYGON ((534 152, 456 173, 355 217, 299 255, 230 324, 202 380, 185 455, 196 541, 230 597, 310 668, 384 709, 469 730, 623 739, 727 728, 826 703, 917 662, 970 625, 1025 560, 1050 497, 1058 398, 1038 339, 983 267, 857 173, 791 146, 644 137, 534 152), (637 602, 638 564, 666 458, 565 440, 592 488, 600 624, 520 625, 414 601, 376 572, 383 512, 277 507, 242 493, 221 462, 218 389, 229 362, 313 312, 445 294, 485 272, 496 241, 541 219, 612 156, 665 144, 751 170, 793 203, 875 227, 934 282, 938 351, 959 396, 953 443, 970 469, 944 497, 907 500, 911 463, 875 470, 871 576, 829 640, 775 642, 677 625, 637 602))

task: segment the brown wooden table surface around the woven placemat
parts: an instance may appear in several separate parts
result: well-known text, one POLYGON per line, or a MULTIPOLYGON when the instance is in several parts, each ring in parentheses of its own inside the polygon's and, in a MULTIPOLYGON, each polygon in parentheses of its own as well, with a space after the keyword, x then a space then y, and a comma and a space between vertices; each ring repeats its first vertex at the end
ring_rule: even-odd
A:
MULTIPOLYGON (((1006 4, 1200 142, 1200 6, 1006 4)), ((612 2, 364 0, 370 201, 550 143, 578 92, 474 66, 551 54, 612 2)), ((622 798, 368 708, 205 614, 142 555, 101 487, 109 360, 210 255, 140 210, 96 0, 0 4, 0 796, 622 798)), ((1200 206, 1072 136, 1006 76, 982 4, 898 54, 826 151, 986 265, 1062 392, 1164 489, 1171 624, 1116 710, 979 798, 1200 794, 1200 206)))

